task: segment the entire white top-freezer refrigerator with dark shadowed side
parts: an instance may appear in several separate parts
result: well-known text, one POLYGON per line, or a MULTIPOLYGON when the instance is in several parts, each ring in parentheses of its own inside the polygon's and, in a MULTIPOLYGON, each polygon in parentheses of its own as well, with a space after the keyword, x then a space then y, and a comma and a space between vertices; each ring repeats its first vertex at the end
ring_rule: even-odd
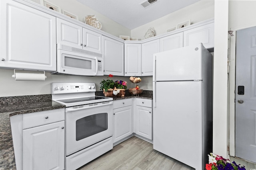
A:
POLYGON ((153 148, 196 170, 212 152, 212 55, 202 43, 154 54, 153 148))

